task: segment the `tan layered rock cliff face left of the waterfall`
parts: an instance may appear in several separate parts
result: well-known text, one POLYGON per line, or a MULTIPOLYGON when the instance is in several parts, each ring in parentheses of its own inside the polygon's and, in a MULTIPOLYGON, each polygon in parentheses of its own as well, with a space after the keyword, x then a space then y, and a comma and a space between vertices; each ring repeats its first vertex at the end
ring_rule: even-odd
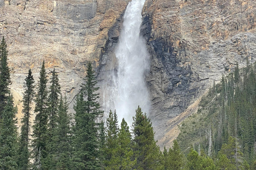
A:
MULTIPOLYGON (((86 61, 98 67, 108 32, 128 0, 0 0, 0 37, 5 36, 12 91, 22 97, 29 68, 37 78, 42 61, 59 72, 62 90, 73 100, 85 76, 86 61)), ((115 34, 118 37, 118 32, 115 34)), ((19 116, 19 115, 18 115, 19 116)))

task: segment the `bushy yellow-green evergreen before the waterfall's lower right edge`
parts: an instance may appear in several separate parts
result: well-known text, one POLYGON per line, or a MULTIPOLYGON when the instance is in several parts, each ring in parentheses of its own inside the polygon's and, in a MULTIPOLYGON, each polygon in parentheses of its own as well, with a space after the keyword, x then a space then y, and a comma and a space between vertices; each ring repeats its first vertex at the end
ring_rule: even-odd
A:
POLYGON ((152 123, 143 114, 138 106, 136 114, 133 117, 132 131, 134 135, 134 157, 137 158, 136 169, 163 169, 162 154, 154 139, 152 123))

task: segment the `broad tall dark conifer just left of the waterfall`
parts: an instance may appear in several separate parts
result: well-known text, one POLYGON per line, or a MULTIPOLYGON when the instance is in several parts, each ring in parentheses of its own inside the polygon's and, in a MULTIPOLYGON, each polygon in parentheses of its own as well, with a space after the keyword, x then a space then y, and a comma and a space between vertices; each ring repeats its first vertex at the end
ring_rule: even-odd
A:
POLYGON ((74 126, 74 168, 75 169, 100 169, 99 161, 99 123, 98 117, 102 115, 100 104, 97 101, 99 94, 96 87, 97 80, 92 69, 92 63, 88 63, 86 69, 85 84, 77 103, 74 107, 75 126, 74 126))

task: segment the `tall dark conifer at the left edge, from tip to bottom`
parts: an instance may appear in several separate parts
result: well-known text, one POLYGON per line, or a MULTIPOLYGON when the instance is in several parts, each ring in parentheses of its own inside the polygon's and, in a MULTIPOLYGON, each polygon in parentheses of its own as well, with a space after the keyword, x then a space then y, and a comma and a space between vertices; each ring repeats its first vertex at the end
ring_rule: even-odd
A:
POLYGON ((17 169, 17 127, 5 39, 0 45, 0 169, 17 169))

